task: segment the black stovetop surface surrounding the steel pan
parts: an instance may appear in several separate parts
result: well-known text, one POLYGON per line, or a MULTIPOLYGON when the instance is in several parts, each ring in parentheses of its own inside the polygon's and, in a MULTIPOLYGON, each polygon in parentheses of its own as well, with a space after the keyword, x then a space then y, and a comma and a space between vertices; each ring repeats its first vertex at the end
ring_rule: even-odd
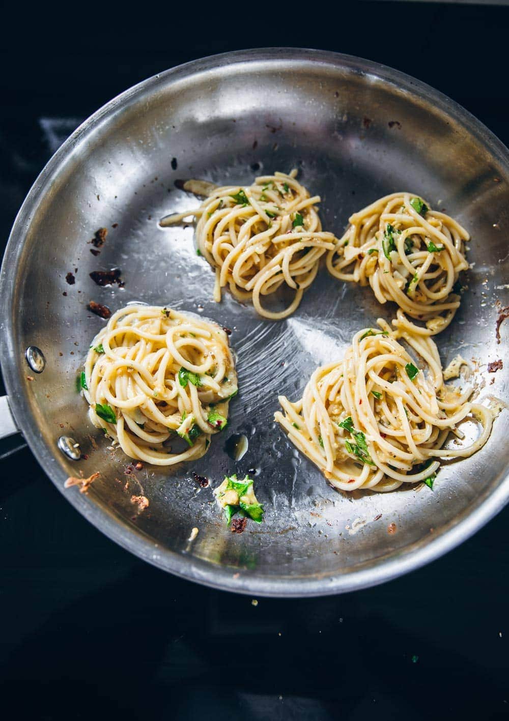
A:
MULTIPOLYGON (((158 71, 226 50, 314 47, 379 61, 445 92, 509 144, 507 7, 2 4, 1 18, 3 243, 43 164, 81 120, 158 71)), ((379 588, 254 606, 115 546, 27 448, 0 467, 5 717, 509 715, 508 510, 446 557, 379 588)))

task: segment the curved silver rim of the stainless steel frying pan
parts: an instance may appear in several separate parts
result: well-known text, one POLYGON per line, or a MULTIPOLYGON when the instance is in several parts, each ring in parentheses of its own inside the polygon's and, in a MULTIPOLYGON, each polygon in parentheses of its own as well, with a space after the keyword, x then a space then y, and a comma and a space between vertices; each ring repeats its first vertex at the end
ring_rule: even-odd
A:
POLYGON ((25 393, 19 392, 19 381, 25 361, 22 358, 22 353, 19 353, 14 348, 16 323, 14 322, 12 301, 17 281, 15 270, 17 269, 19 254, 25 242, 26 229, 48 189, 51 178, 58 174, 59 169, 66 162, 73 149, 79 143, 86 141, 97 126, 110 118, 119 108, 128 102, 135 101, 136 97, 141 94, 153 91, 158 85, 165 87, 167 84, 173 84, 200 72, 213 71, 225 63, 270 63, 271 61, 292 61, 303 64, 322 63, 331 68, 347 69, 352 73, 373 74, 379 81, 389 83, 400 90, 404 89, 414 96, 425 98, 428 102, 433 102, 433 105, 438 110, 441 110, 466 128, 466 131, 482 143, 493 159, 500 166, 503 166, 509 174, 508 149, 483 123, 474 118, 474 115, 427 84, 380 63, 326 50, 257 48, 253 50, 235 50, 230 53, 199 58, 170 68, 130 87, 94 112, 84 123, 79 125, 79 128, 50 158, 32 185, 14 220, 1 266, 0 303, 4 309, 4 319, 1 322, 3 333, 0 338, 0 361, 6 391, 9 396, 9 405, 12 408, 14 418, 17 421, 18 428, 22 430, 32 453, 43 467, 45 474, 48 475, 58 490, 65 495, 66 499, 74 505, 74 508, 112 541, 115 541, 137 557, 151 563, 151 565, 169 571, 180 578, 192 580, 211 588, 231 590, 252 596, 284 598, 327 596, 368 588, 397 578, 441 557, 461 542, 469 539, 508 503, 509 474, 500 481, 494 492, 487 495, 479 503, 477 508, 474 508, 469 513, 464 513, 464 516, 458 521, 451 521, 438 536, 426 542, 417 542, 413 547, 407 547, 407 549, 395 552, 389 557, 366 562, 364 564, 366 567, 359 570, 306 579, 298 576, 272 578, 267 575, 260 576, 256 575, 255 572, 246 571, 241 572, 238 578, 234 578, 235 570, 228 567, 216 567, 211 562, 170 549, 162 549, 142 531, 129 526, 122 519, 116 518, 112 512, 108 512, 107 508, 94 503, 93 500, 87 499, 87 497, 79 493, 69 494, 64 491, 63 477, 60 478, 63 474, 55 460, 57 451, 51 451, 43 438, 36 432, 37 424, 32 415, 30 403, 25 397, 25 393), (417 545, 417 548, 415 548, 415 545, 417 545))

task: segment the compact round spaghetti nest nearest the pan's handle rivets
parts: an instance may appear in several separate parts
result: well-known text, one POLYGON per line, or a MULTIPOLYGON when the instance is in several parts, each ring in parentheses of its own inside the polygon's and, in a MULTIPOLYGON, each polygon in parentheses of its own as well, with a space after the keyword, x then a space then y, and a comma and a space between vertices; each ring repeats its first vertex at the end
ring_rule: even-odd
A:
POLYGON ((81 387, 90 420, 126 456, 170 466, 205 454, 211 435, 226 426, 237 381, 218 325, 132 305, 113 314, 94 338, 81 387), (175 442, 182 451, 172 453, 175 442))

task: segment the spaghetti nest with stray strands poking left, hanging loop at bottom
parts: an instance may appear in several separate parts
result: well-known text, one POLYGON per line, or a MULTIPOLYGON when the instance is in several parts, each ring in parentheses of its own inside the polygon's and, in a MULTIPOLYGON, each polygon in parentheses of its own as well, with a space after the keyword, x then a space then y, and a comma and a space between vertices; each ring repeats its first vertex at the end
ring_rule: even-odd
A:
MULTIPOLYGON (((215 301, 221 301, 221 289, 228 285, 239 301, 252 301, 265 318, 286 318, 298 308, 320 258, 334 249, 336 239, 322 232, 314 207, 319 195, 311 198, 296 174, 276 172, 242 187, 201 183, 208 197, 199 208, 161 220, 161 226, 169 226, 195 216, 198 252, 216 270, 215 301), (265 309, 262 296, 275 293, 283 283, 295 291, 291 304, 279 312, 265 309)), ((187 182, 185 188, 191 190, 196 182, 187 182)))

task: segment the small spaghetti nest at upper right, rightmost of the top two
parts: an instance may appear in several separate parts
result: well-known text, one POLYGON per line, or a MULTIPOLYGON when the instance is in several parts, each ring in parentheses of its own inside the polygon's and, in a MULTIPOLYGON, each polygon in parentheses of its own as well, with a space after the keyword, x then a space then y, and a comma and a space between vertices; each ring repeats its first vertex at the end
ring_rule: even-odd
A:
MULTIPOLYGON (((460 303, 461 270, 469 234, 445 213, 431 211, 411 193, 392 193, 350 217, 350 226, 327 255, 340 280, 370 284, 379 303, 394 301, 435 335, 460 303)), ((417 332, 417 326, 414 326, 417 332)))

